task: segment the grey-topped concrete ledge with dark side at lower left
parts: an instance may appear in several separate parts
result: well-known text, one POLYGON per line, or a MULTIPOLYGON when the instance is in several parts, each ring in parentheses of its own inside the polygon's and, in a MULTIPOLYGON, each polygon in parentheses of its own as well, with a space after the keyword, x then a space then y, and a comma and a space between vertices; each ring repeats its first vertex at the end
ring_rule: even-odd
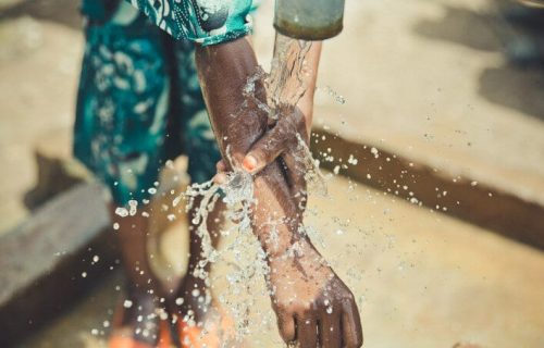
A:
POLYGON ((76 186, 0 238, 0 346, 9 347, 87 294, 114 264, 98 184, 76 186))

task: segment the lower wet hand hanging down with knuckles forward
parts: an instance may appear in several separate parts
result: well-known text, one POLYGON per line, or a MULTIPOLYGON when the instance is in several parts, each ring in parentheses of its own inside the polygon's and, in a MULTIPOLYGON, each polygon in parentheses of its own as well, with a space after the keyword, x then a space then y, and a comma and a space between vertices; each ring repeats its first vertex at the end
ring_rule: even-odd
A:
POLYGON ((270 260, 269 286, 282 338, 302 348, 360 347, 362 328, 351 291, 308 240, 292 251, 270 260))

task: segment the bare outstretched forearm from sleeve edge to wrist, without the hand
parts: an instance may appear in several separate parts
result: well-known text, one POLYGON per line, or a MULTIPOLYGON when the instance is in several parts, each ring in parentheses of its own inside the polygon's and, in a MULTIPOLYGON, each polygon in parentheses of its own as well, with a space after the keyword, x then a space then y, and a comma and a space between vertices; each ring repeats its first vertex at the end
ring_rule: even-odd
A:
MULTIPOLYGON (((267 114, 242 94, 248 78, 257 72, 254 50, 246 39, 238 39, 225 45, 199 47, 196 59, 208 112, 223 158, 227 158, 228 147, 228 157, 240 165, 251 145, 264 134, 268 123, 267 114), (248 101, 246 107, 245 101, 248 101)), ((265 100, 262 86, 257 87, 256 95, 265 100)), ((277 163, 272 163, 255 177, 255 196, 259 202, 255 223, 265 222, 269 212, 274 212, 279 221, 296 219, 297 209, 277 163)), ((296 229, 292 233, 292 228, 281 227, 280 243, 274 246, 269 243, 267 228, 257 228, 261 232, 258 234, 259 240, 269 254, 284 252, 296 238, 296 229)))

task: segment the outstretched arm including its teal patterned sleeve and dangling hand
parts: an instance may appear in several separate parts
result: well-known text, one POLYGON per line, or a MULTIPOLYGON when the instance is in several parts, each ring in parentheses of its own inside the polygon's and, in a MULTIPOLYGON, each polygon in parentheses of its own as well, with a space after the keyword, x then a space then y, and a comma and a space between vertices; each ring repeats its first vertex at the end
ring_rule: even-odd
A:
MULTIPOLYGON (((251 29, 247 20, 251 1, 127 1, 174 38, 199 44, 197 64, 218 142, 224 158, 228 146, 230 154, 242 165, 268 126, 267 115, 257 105, 243 108, 243 87, 257 69, 254 50, 244 38, 251 29)), ((259 92, 264 101, 264 90, 259 92)), ((311 115, 311 109, 305 109, 308 107, 311 102, 299 103, 298 111, 311 115)), ((298 120, 306 122, 305 117, 298 120)), ((282 336, 301 347, 313 348, 318 341, 327 348, 358 347, 362 332, 354 296, 299 233, 296 190, 282 170, 279 161, 273 161, 255 176, 258 204, 254 212, 254 229, 269 256, 272 303, 282 336), (267 224, 272 217, 283 222, 275 228, 277 238, 272 238, 273 231, 267 224)))

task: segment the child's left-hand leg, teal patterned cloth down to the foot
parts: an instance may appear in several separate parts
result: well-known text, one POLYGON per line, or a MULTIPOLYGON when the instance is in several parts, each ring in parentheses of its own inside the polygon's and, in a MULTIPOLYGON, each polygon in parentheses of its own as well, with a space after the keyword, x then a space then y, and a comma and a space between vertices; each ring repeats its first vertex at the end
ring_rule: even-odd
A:
POLYGON ((163 294, 148 259, 145 202, 164 159, 170 83, 163 35, 118 1, 113 13, 89 17, 86 38, 74 152, 113 196, 111 215, 127 278, 118 324, 124 338, 156 346, 163 294))

